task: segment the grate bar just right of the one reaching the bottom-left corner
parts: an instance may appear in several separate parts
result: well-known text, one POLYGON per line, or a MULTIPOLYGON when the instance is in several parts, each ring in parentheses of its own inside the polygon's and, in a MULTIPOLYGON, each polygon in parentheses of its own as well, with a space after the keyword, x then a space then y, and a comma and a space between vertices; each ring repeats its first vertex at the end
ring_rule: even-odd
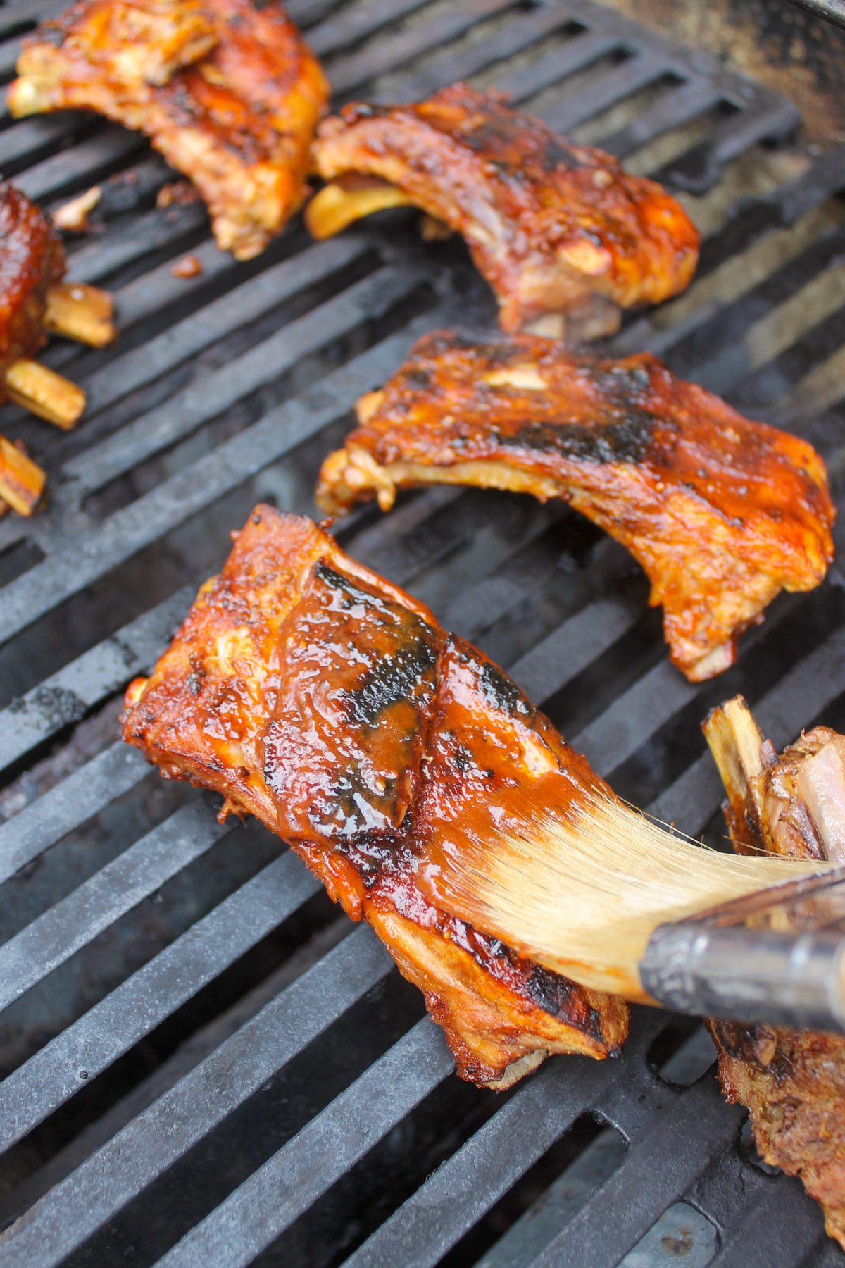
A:
POLYGON ((443 1032, 423 1017, 160 1259, 160 1268, 248 1264, 454 1069, 443 1032))

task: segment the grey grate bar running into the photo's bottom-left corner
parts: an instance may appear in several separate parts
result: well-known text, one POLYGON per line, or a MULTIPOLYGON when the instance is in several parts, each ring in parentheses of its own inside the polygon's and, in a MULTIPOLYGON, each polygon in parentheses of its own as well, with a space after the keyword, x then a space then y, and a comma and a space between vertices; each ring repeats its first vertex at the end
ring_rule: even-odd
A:
POLYGON ((4 1268, 61 1263, 391 969, 367 927, 350 933, 0 1234, 4 1268))

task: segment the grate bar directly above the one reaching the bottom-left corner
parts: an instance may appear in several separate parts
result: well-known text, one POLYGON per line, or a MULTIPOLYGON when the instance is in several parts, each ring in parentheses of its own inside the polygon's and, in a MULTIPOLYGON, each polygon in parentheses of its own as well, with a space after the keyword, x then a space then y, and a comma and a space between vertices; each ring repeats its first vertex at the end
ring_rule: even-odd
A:
POLYGON ((0 1083, 0 1150, 68 1101, 321 890, 283 855, 0 1083))

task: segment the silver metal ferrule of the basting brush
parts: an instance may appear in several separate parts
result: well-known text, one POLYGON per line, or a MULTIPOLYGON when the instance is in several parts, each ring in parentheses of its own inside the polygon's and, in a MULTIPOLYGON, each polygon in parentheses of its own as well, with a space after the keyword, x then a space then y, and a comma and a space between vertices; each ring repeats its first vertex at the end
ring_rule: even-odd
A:
POLYGON ((845 1032, 845 940, 679 921, 654 931, 644 988, 680 1013, 845 1032))

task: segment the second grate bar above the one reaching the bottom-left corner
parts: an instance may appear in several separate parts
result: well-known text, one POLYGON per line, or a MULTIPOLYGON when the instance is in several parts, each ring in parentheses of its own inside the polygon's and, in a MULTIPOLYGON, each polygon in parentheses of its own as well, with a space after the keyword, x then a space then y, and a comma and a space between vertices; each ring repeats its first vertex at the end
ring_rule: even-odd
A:
POLYGON ((0 947, 0 1009, 8 1008, 120 915, 155 894, 233 827, 218 823, 206 804, 182 806, 4 942, 0 947))

